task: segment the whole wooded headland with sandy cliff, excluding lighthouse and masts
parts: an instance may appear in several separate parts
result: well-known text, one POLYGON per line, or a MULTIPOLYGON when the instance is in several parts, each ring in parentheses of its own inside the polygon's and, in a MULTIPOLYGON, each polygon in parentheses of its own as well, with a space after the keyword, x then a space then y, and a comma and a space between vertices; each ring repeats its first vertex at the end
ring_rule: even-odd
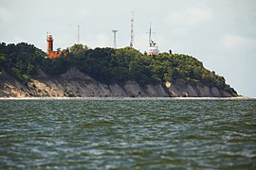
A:
POLYGON ((75 44, 54 59, 32 44, 0 43, 0 97, 233 97, 223 76, 188 55, 75 44))

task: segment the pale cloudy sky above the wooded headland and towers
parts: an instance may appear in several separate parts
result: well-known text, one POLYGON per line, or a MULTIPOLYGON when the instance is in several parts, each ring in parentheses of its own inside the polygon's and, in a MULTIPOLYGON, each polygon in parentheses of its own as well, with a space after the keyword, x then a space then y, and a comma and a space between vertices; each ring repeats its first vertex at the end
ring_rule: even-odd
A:
POLYGON ((0 42, 28 42, 46 51, 78 42, 90 48, 130 44, 144 52, 152 39, 160 52, 186 54, 224 76, 237 93, 256 97, 255 0, 0 0, 0 42))

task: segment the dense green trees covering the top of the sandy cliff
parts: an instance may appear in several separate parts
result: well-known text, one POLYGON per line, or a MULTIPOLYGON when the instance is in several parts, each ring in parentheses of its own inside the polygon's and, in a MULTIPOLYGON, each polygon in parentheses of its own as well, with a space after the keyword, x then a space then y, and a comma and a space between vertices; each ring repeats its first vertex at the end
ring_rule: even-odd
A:
POLYGON ((136 80, 141 85, 157 84, 183 78, 192 84, 201 82, 236 94, 223 76, 210 72, 191 56, 168 53, 146 56, 130 47, 89 49, 82 44, 66 50, 69 51, 67 57, 46 59, 46 53, 34 45, 2 42, 0 71, 5 70, 26 84, 30 77, 38 75, 40 69, 47 76, 59 76, 75 66, 82 73, 106 84, 122 84, 127 80, 136 80))

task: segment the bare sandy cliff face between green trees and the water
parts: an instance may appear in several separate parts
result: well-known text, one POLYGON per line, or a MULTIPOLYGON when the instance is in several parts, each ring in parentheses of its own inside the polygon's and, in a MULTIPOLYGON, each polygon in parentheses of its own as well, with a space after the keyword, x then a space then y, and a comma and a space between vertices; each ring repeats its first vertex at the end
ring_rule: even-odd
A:
POLYGON ((145 85, 141 87, 135 81, 119 84, 102 84, 90 76, 71 68, 58 77, 46 76, 43 72, 32 78, 27 86, 6 74, 0 76, 0 97, 230 97, 231 94, 216 87, 198 83, 192 85, 178 79, 167 88, 165 85, 145 85))

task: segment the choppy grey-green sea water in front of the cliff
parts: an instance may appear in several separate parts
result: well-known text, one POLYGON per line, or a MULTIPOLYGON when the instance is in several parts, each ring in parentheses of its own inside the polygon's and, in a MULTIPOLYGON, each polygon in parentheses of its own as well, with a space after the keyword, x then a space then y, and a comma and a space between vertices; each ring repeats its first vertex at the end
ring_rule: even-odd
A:
POLYGON ((0 100, 0 169, 256 169, 256 100, 0 100))

